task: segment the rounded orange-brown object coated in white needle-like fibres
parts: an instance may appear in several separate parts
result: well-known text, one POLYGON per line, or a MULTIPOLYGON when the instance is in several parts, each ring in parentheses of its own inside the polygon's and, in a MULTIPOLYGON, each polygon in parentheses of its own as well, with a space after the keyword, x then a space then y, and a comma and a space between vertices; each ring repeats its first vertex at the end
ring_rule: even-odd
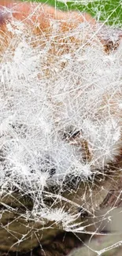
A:
POLYGON ((58 182, 71 173, 86 179, 116 162, 121 31, 96 24, 87 13, 13 1, 1 2, 0 24, 6 166, 36 169, 58 182), (118 49, 106 54, 108 32, 118 49))

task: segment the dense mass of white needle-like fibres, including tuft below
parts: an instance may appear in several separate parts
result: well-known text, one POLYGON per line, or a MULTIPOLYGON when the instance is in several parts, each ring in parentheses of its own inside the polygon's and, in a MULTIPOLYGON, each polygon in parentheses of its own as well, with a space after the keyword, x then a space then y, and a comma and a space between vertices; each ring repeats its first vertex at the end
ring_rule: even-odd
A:
POLYGON ((19 191, 33 202, 24 218, 77 232, 72 223, 82 204, 63 193, 92 182, 120 156, 120 32, 87 21, 61 29, 58 20, 41 32, 39 24, 30 28, 16 19, 6 30, 7 39, 0 35, 1 198, 19 191), (109 52, 108 40, 119 42, 109 52))

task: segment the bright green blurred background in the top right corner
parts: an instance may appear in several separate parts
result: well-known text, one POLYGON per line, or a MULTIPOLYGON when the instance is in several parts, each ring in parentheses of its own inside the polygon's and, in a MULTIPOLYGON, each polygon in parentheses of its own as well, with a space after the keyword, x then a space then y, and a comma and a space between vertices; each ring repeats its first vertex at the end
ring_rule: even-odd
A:
POLYGON ((37 0, 36 2, 46 2, 62 10, 78 9, 91 13, 97 20, 105 20, 106 24, 122 27, 122 0, 37 0))

